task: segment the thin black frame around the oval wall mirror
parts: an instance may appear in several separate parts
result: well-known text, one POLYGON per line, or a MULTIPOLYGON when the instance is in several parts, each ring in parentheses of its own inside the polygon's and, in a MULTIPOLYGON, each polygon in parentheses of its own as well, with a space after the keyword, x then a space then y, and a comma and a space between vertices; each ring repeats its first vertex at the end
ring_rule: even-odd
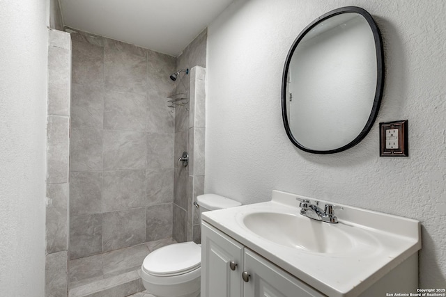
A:
POLYGON ((362 8, 356 7, 356 6, 347 6, 343 8, 337 8, 335 10, 330 11, 329 13, 325 13, 325 15, 322 15, 321 17, 318 17, 315 19, 311 24, 309 24, 305 29, 298 35, 298 37, 294 40, 293 45, 291 46, 291 49, 288 52, 288 55, 286 56, 286 62, 284 67, 284 72, 282 74, 282 119, 284 120, 284 126, 286 135, 290 138, 291 143, 295 145, 296 147, 300 148, 300 150, 304 150, 305 152, 311 152, 313 154, 333 154, 336 152, 342 152, 344 150, 348 150, 349 148, 357 145, 357 143, 360 143, 362 139, 369 133, 371 127, 374 125, 374 122, 376 120, 376 117, 378 116, 379 106, 381 103, 381 98, 383 97, 383 89, 384 89, 384 49, 383 49, 383 40, 381 38, 380 31, 378 29, 378 26, 376 25, 373 17, 367 12, 367 10, 364 10, 362 8), (367 22, 369 23, 369 26, 371 28, 371 31, 374 35, 374 41, 375 41, 375 48, 376 48, 376 92, 375 92, 375 98, 374 98, 374 105, 372 106, 371 113, 369 115, 369 119, 367 120, 367 123, 360 132, 360 134, 351 141, 351 143, 348 143, 344 145, 343 147, 339 147, 334 150, 311 150, 308 147, 304 147, 298 141, 294 138, 293 134, 291 133, 291 129, 289 127, 288 123, 288 116, 286 115, 286 81, 288 80, 288 70, 289 65, 291 62, 291 58, 293 57, 294 51, 296 47, 298 47, 298 44, 300 40, 316 26, 317 24, 323 22, 325 19, 328 19, 330 17, 333 17, 334 15, 340 15, 342 13, 358 13, 364 17, 367 22))

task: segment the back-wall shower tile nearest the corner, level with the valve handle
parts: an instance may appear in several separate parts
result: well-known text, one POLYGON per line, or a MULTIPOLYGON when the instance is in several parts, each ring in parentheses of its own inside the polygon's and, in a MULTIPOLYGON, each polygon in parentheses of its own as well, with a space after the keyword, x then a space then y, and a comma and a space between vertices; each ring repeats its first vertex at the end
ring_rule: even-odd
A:
POLYGON ((147 134, 147 168, 174 167, 174 134, 147 134))

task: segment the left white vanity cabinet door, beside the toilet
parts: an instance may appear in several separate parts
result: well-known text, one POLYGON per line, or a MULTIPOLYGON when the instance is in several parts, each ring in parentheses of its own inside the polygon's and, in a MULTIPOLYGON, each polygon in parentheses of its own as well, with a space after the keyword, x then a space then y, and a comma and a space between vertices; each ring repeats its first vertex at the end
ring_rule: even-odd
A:
POLYGON ((241 297, 243 246, 201 223, 201 297, 241 297), (234 270, 230 262, 237 264, 234 270))

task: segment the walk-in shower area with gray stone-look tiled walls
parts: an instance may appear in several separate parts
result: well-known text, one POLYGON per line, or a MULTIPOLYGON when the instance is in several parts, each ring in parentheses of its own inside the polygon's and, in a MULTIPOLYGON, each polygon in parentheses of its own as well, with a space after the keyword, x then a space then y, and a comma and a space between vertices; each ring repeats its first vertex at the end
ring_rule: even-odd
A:
MULTIPOLYGON (((72 42, 69 289, 116 275, 121 266, 125 273, 157 246, 200 241, 192 202, 204 182, 207 33, 175 58, 67 31, 72 42), (183 68, 190 73, 169 79, 183 68), (177 92, 187 94, 187 104, 169 108, 167 96, 177 92), (176 163, 183 151, 190 151, 186 168, 176 163), (126 261, 127 266, 118 263, 126 261)), ((64 274, 58 272, 54 275, 64 274)), ((60 293, 61 286, 63 280, 47 284, 47 296, 56 296, 52 291, 60 293)))

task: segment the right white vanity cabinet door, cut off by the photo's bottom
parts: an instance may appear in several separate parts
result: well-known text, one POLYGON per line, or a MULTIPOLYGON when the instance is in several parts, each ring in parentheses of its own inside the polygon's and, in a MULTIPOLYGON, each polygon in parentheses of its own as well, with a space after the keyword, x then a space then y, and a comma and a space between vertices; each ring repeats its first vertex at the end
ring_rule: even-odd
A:
POLYGON ((244 297, 323 297, 318 291, 245 248, 244 268, 250 276, 244 297))

